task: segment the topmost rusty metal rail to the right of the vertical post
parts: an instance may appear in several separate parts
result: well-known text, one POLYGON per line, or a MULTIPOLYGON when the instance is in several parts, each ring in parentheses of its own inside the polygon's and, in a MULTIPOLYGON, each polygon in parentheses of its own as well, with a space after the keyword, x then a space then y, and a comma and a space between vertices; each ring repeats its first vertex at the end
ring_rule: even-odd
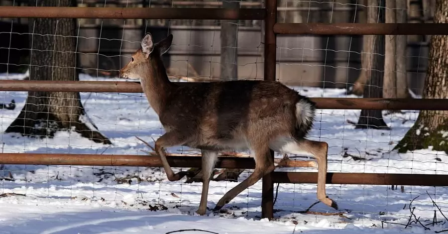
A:
POLYGON ((276 23, 274 32, 290 35, 448 35, 448 23, 276 23))

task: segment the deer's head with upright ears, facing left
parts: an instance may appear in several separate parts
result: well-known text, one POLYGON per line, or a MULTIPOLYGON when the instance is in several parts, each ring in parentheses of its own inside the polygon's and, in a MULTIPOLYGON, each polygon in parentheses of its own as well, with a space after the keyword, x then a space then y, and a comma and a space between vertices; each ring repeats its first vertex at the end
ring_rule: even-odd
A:
POLYGON ((172 42, 172 34, 154 43, 151 33, 146 33, 141 40, 141 48, 132 54, 130 61, 120 69, 120 77, 125 79, 144 78, 148 69, 153 70, 154 67, 160 66, 160 56, 170 49, 172 42))

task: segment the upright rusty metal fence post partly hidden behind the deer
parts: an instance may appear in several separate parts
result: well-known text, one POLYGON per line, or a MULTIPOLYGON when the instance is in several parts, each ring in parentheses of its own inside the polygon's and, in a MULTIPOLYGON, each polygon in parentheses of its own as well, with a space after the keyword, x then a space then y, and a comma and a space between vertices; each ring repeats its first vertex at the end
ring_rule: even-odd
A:
MULTIPOLYGON (((274 24, 277 22, 277 0, 266 1, 266 18, 264 19, 264 80, 275 81, 277 38, 274 24)), ((271 150, 271 156, 274 152, 271 150)), ((274 218, 274 183, 272 173, 263 177, 261 195, 261 217, 274 218)))

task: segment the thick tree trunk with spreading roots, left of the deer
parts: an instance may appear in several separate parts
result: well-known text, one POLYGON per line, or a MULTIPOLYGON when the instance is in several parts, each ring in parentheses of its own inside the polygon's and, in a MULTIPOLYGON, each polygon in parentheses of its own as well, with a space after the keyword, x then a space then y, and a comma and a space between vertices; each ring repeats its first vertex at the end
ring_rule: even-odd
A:
MULTIPOLYGON (((30 0, 29 5, 76 6, 76 0, 30 0)), ((75 69, 75 20, 37 18, 29 23, 29 32, 32 32, 30 80, 79 80, 79 71, 75 69)), ((98 143, 112 143, 98 129, 90 129, 86 121, 89 122, 89 118, 78 92, 28 92, 25 106, 5 132, 44 138, 53 137, 57 130, 74 127, 83 137, 98 143)))

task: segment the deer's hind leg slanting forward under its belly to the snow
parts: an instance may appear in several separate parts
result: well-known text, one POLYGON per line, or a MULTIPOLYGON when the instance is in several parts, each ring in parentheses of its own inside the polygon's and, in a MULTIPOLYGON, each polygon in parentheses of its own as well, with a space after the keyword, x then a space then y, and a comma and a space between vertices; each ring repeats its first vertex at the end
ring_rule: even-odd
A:
POLYGON ((253 173, 243 180, 241 183, 230 189, 221 200, 216 204, 213 211, 218 211, 233 198, 240 194, 243 190, 255 184, 261 177, 272 172, 275 169, 274 159, 271 157, 269 147, 258 147, 255 149, 255 170, 253 173))

